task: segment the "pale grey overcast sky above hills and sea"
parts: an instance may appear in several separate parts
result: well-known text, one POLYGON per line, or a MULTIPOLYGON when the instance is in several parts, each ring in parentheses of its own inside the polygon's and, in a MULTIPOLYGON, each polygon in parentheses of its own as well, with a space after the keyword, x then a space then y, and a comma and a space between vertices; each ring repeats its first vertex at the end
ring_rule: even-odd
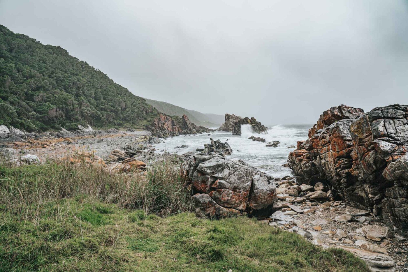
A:
POLYGON ((203 113, 300 124, 408 104, 402 0, 0 0, 0 24, 203 113))

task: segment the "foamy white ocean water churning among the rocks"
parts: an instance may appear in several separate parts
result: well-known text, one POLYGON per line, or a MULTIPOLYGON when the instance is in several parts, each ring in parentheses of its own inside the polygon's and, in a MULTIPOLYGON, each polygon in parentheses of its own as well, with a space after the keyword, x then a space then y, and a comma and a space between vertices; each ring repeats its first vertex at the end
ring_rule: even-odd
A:
POLYGON ((157 153, 167 151, 183 154, 196 148, 204 148, 204 144, 210 143, 210 138, 220 139, 222 142, 228 142, 233 150, 232 155, 227 156, 228 159, 242 159, 273 177, 284 177, 289 175, 291 171, 282 165, 286 164, 290 151, 295 150, 295 148, 288 147, 296 146, 297 141, 306 140, 308 138, 308 129, 311 127, 312 125, 276 125, 269 127, 267 134, 257 134, 252 132, 250 125, 242 125, 242 135, 240 136, 224 131, 199 135, 181 135, 165 139, 164 142, 156 144, 155 148, 157 153), (208 134, 211 134, 211 136, 208 136, 208 134), (264 138, 266 143, 248 139, 252 135, 264 138), (273 141, 281 143, 276 148, 265 146, 268 142, 273 141), (180 148, 182 145, 188 147, 180 148))

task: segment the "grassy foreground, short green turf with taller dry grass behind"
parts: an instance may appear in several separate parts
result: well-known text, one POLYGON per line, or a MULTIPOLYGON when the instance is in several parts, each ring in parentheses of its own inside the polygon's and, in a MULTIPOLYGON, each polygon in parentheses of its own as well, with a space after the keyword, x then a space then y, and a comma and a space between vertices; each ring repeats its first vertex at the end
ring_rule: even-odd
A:
MULTIPOLYGON (((156 181, 147 179, 150 187, 134 187, 152 188, 140 194, 148 204, 136 193, 111 187, 138 203, 130 205, 124 197, 108 201, 112 191, 79 186, 82 181, 73 179, 64 180, 64 186, 73 186, 69 196, 61 197, 62 190, 41 191, 46 187, 42 183, 57 188, 57 179, 47 180, 55 175, 86 175, 89 184, 101 185, 86 169, 68 174, 54 167, 0 167, 0 271, 368 271, 348 252, 321 250, 297 234, 254 219, 199 219, 163 205, 153 209, 157 199, 173 199, 173 208, 172 203, 181 201, 155 197, 155 188, 164 183, 162 170, 157 170, 156 181)), ((105 185, 119 181, 102 177, 105 185)), ((166 195, 175 192, 181 191, 166 195)))

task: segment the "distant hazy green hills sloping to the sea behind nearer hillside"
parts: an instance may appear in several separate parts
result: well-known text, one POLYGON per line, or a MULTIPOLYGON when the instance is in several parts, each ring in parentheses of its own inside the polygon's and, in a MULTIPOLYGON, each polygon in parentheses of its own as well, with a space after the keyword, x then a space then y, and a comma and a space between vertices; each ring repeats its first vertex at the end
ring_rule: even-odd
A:
POLYGON ((223 115, 200 113, 198 111, 188 110, 186 108, 162 101, 146 99, 146 102, 155 107, 158 111, 167 115, 182 117, 183 114, 185 114, 187 115, 188 119, 190 119, 190 121, 197 126, 205 126, 210 128, 219 127, 222 123, 224 123, 223 115))

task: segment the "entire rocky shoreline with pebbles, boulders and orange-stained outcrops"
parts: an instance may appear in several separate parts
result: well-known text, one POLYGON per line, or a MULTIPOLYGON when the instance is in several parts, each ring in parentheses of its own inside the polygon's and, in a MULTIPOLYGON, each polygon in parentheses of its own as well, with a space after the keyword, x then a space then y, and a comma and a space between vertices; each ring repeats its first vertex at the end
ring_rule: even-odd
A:
MULTIPOLYGON (((244 161, 228 159, 233 150, 227 142, 219 140, 211 139, 204 148, 183 155, 155 153, 154 145, 164 140, 158 136, 208 131, 185 118, 180 126, 163 116, 163 120, 157 120, 154 133, 78 127, 75 132, 62 129, 35 134, 0 127, 0 151, 16 164, 69 159, 73 164, 86 163, 116 175, 141 178, 155 161, 177 161, 189 183, 197 215, 256 217, 270 226, 296 232, 317 246, 353 252, 373 271, 408 271, 408 243, 404 238, 404 131, 401 134, 395 129, 390 133, 385 129, 388 125, 383 125, 383 130, 380 126, 366 125, 367 120, 380 120, 377 117, 381 113, 384 121, 379 123, 393 120, 405 126, 404 109, 392 105, 363 113, 344 105, 331 108, 310 129, 309 139, 298 142, 297 149, 290 153, 289 164, 295 177, 284 179, 274 179, 244 161), (355 158, 359 161, 354 161, 355 158), (368 167, 374 171, 364 172, 368 167), (383 178, 379 180, 380 175, 383 178), (374 194, 381 189, 383 193, 374 194), (392 198, 396 191, 398 197, 392 198), (392 217, 386 216, 387 209, 393 212, 392 217)), ((231 122, 222 128, 232 128, 232 133, 237 124, 239 127, 242 122, 247 124, 246 119, 235 115, 226 115, 226 121, 227 117, 231 122)), ((260 123, 253 124, 264 129, 260 123)), ((262 138, 255 138, 263 142, 262 138)), ((278 144, 268 143, 271 147, 278 144)))

